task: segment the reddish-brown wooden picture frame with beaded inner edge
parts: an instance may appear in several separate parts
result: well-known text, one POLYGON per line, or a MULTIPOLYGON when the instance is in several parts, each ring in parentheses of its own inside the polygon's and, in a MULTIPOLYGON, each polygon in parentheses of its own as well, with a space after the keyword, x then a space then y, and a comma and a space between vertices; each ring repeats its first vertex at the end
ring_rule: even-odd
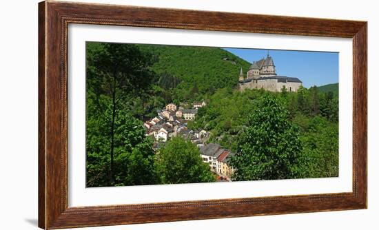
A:
POLYGON ((58 229, 367 208, 367 22, 260 14, 39 3, 39 227, 58 229), (352 192, 68 207, 68 25, 127 25, 353 39, 352 192))

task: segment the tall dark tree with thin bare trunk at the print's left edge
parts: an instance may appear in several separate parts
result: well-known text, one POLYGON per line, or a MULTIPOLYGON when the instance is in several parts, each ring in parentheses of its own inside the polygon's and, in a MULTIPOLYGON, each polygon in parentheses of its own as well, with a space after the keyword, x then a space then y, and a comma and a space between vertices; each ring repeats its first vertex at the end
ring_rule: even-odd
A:
MULTIPOLYGON (((94 103, 90 116, 103 116, 109 129, 110 168, 108 186, 114 185, 115 130, 118 128, 117 114, 127 107, 135 96, 142 96, 150 90, 154 75, 150 55, 132 44, 100 43, 96 52, 88 52, 87 97, 94 103), (106 111, 106 112, 105 112, 106 111)), ((105 153, 103 153, 105 154, 105 153)))

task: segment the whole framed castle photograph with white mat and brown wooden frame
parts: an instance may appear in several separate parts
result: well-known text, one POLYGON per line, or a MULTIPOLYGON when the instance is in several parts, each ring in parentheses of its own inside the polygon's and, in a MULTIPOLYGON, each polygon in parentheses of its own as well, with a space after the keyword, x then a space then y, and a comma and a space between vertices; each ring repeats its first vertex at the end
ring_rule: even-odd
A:
POLYGON ((367 22, 39 3, 39 227, 367 208, 367 22))

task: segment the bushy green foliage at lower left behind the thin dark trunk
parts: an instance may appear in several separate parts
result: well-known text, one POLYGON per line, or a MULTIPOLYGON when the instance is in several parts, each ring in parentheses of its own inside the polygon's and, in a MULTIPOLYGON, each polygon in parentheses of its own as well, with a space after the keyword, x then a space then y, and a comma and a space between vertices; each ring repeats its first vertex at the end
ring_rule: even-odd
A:
MULTIPOLYGON (((105 110, 110 114, 112 107, 105 110)), ((141 121, 124 110, 116 114, 114 129, 114 185, 150 185, 156 182, 152 139, 141 121)), ((87 122, 87 186, 109 186, 110 126, 103 116, 87 122)))

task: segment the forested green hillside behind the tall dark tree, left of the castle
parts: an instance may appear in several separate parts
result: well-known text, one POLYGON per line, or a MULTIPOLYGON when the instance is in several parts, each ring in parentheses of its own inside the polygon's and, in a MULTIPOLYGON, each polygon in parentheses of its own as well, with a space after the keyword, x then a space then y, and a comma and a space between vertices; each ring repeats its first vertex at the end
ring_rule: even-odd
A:
MULTIPOLYGON (((105 43, 88 42, 87 59, 103 50, 105 43)), ((216 90, 232 90, 238 83, 240 67, 247 72, 250 63, 221 48, 119 44, 135 47, 150 59, 154 73, 150 96, 134 98, 131 111, 138 118, 155 116, 167 103, 192 103, 207 100, 216 90), (141 114, 143 116, 141 117, 141 114)), ((127 63, 125 63, 127 65, 127 63)), ((141 79, 143 81, 143 79, 141 79)))

